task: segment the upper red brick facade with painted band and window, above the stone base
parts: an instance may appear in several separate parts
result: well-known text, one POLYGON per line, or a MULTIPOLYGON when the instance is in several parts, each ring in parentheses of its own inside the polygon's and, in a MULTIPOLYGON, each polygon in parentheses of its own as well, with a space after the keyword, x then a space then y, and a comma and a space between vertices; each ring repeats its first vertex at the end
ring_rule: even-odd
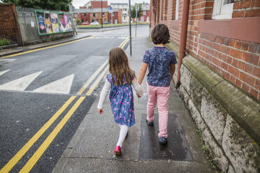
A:
MULTIPOLYGON (((157 23, 168 25, 171 40, 179 45, 183 1, 157 0, 157 3, 157 7, 153 6, 152 27, 157 23)), ((260 38, 259 31, 254 29, 258 29, 255 22, 259 16, 259 0, 191 1, 187 36, 189 54, 257 100, 260 100, 260 38)))

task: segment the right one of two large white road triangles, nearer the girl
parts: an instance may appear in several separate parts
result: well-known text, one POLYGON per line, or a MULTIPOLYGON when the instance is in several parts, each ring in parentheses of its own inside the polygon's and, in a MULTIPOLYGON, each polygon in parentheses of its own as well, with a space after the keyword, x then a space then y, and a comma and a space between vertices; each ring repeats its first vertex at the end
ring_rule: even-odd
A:
POLYGON ((46 84, 43 87, 34 89, 34 92, 41 93, 69 93, 71 91, 71 85, 73 82, 74 74, 68 75, 60 80, 56 80, 50 84, 46 84))

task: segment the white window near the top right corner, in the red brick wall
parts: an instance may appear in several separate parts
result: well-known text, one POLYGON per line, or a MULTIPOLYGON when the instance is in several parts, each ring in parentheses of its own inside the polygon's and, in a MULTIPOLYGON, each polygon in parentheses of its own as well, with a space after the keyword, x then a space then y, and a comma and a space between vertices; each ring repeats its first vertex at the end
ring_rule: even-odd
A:
POLYGON ((215 0, 212 19, 231 19, 234 0, 215 0))

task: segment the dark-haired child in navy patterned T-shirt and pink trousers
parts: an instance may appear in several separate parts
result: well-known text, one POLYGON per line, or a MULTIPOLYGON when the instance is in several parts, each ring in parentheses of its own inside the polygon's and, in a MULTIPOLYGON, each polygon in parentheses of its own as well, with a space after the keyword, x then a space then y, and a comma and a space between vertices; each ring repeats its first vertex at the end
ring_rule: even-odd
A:
POLYGON ((151 33, 152 42, 156 45, 147 50, 143 55, 143 63, 138 75, 138 83, 143 82, 147 67, 147 119, 148 126, 154 124, 154 107, 158 106, 159 112, 159 143, 168 141, 168 98, 170 96, 170 82, 175 72, 175 53, 165 47, 169 43, 170 34, 164 24, 157 24, 151 33))

